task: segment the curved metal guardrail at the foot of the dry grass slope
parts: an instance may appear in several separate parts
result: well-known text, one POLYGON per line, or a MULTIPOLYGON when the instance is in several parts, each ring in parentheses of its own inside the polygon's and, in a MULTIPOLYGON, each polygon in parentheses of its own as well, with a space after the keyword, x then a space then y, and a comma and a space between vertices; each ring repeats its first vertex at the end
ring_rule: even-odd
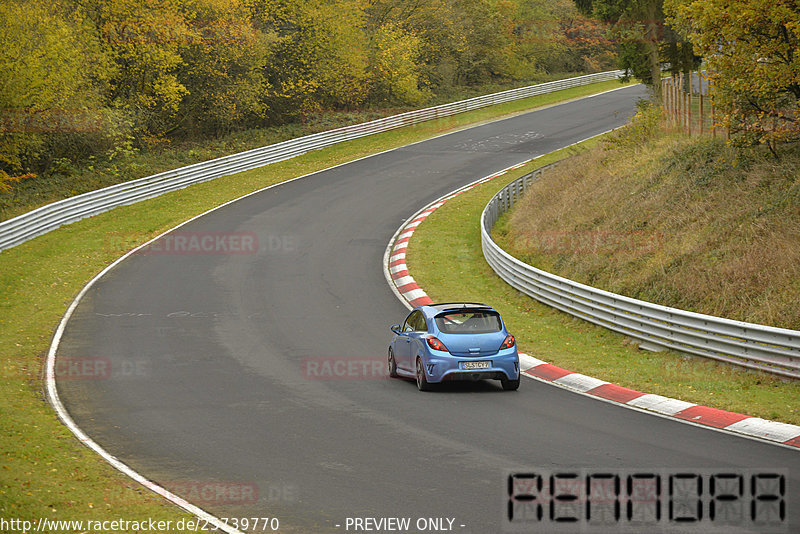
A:
POLYGON ((536 300, 642 341, 650 350, 672 349, 731 364, 800 378, 800 331, 688 312, 580 284, 514 258, 492 240, 500 216, 511 209, 548 165, 500 190, 481 215, 481 247, 495 273, 536 300))

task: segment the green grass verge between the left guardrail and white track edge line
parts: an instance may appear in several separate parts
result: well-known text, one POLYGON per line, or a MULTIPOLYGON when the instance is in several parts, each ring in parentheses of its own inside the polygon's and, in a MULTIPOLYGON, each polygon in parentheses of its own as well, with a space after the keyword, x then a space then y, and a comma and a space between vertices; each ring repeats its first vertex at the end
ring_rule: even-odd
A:
POLYGON ((619 87, 594 84, 371 136, 76 222, 0 253, 0 517, 185 518, 83 448, 45 400, 42 363, 80 288, 132 248, 227 200, 467 125, 619 87))

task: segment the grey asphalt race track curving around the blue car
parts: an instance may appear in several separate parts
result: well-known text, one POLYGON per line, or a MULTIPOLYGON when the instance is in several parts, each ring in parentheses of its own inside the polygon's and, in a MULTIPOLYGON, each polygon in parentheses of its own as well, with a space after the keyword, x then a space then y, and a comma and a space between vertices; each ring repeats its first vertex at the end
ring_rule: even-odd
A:
MULTIPOLYGON (((478 126, 191 222, 179 237, 212 236, 213 253, 162 239, 82 300, 58 358, 111 372, 60 379, 64 404, 146 477, 218 516, 277 517, 280 532, 354 532, 356 517, 411 518, 411 532, 419 518, 501 532, 506 470, 537 467, 783 469, 790 523, 777 531, 800 531, 797 451, 528 379, 516 393, 493 382, 420 393, 383 374, 388 327, 407 312, 381 262, 403 220, 460 185, 623 124, 644 95, 635 86, 478 126), (237 238, 257 250, 230 253, 237 238)), ((109 502, 116 493, 109 487, 109 502)))

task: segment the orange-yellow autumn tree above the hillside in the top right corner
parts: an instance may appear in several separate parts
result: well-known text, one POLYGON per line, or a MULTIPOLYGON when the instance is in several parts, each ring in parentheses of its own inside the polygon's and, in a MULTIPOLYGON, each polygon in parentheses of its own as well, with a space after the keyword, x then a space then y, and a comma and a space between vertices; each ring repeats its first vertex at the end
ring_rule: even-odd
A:
POLYGON ((704 58, 714 101, 739 143, 800 138, 796 0, 666 0, 670 20, 704 58))

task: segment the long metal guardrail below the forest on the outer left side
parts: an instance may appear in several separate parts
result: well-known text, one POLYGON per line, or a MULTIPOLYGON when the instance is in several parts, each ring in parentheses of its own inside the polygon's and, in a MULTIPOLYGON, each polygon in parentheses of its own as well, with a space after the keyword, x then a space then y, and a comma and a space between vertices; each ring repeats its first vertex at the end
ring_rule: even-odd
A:
POLYGON ((0 222, 0 251, 47 233, 61 225, 91 217, 118 206, 133 204, 221 176, 277 163, 343 141, 561 89, 614 80, 622 74, 623 71, 619 70, 588 74, 409 111, 362 124, 298 137, 98 189, 53 202, 13 219, 0 222))

